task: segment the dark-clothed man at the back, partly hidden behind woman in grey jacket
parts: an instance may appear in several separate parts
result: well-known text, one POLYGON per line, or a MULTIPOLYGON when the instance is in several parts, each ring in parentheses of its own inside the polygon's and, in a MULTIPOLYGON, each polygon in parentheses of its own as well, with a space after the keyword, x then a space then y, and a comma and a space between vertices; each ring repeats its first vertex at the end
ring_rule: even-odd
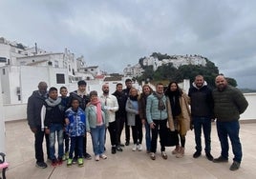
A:
MULTIPOLYGON (((125 80, 125 86, 126 86, 126 89, 123 89, 122 92, 125 95, 125 104, 126 104, 130 89, 133 87, 132 80, 127 78, 125 80)), ((125 113, 125 146, 129 146, 129 145, 130 145, 130 126, 127 125, 127 117, 125 113)))

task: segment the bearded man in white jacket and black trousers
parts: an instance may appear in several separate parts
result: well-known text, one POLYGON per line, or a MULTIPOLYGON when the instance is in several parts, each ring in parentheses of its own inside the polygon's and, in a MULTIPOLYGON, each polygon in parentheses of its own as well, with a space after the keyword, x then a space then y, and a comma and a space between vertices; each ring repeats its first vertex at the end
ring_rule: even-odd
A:
POLYGON ((118 151, 122 151, 122 149, 117 145, 117 124, 116 124, 116 111, 118 109, 118 102, 116 96, 109 94, 109 85, 102 85, 103 93, 99 96, 100 102, 104 109, 107 111, 106 117, 109 122, 109 134, 111 141, 111 152, 115 154, 118 151))

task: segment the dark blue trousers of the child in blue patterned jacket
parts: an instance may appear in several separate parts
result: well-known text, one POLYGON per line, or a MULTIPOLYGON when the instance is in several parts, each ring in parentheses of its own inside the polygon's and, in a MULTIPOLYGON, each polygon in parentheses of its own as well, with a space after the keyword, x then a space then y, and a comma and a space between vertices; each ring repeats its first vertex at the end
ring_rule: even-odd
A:
POLYGON ((71 146, 70 146, 69 158, 71 159, 73 158, 75 147, 78 155, 77 157, 83 158, 83 136, 75 136, 75 137, 71 137, 70 139, 71 139, 70 141, 71 146))

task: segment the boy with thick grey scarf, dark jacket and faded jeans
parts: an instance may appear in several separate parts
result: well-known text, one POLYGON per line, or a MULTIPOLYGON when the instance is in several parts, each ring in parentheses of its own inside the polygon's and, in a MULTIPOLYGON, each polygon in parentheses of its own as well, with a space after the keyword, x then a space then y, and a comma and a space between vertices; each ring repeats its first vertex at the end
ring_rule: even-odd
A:
POLYGON ((64 128, 64 110, 61 105, 61 98, 58 97, 57 89, 49 89, 49 97, 45 100, 42 108, 44 113, 45 133, 49 134, 50 140, 50 159, 52 166, 62 165, 63 157, 63 128, 64 128), (58 158, 55 157, 55 135, 58 142, 58 158))

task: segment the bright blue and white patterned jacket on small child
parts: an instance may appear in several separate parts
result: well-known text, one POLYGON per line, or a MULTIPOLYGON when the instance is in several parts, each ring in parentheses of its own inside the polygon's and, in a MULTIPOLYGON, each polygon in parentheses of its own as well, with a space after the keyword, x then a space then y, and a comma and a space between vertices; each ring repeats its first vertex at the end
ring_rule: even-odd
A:
POLYGON ((78 108, 77 111, 75 111, 69 108, 65 112, 65 117, 70 121, 66 129, 70 137, 85 135, 86 115, 83 109, 78 108))

